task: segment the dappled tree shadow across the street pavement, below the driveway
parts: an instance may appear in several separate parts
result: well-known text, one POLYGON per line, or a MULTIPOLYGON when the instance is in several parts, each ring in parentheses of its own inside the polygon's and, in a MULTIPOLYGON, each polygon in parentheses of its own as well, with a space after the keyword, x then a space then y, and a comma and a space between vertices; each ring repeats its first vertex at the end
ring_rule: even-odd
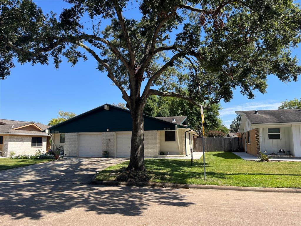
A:
POLYGON ((1 183, 1 215, 12 219, 40 219, 48 213, 61 214, 84 208, 96 214, 142 215, 151 202, 185 207, 185 196, 177 190, 142 187, 105 187, 64 183, 1 183))

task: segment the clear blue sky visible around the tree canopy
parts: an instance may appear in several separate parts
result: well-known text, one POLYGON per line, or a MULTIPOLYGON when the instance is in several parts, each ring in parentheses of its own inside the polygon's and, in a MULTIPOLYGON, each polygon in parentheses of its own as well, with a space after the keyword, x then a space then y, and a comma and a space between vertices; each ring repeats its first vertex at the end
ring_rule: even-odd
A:
MULTIPOLYGON (((63 1, 35 1, 44 13, 51 10, 61 12, 68 7, 63 1)), ((139 18, 135 1, 128 5, 126 17, 139 18), (131 9, 133 8, 133 9, 131 9)), ((82 22, 90 20, 82 18, 82 22)), ((102 21, 104 27, 108 21, 102 21)), ((86 23, 88 27, 91 23, 86 23)), ((301 59, 301 46, 293 50, 293 55, 301 59)), ((124 102, 120 90, 112 85, 106 73, 96 69, 96 61, 88 55, 88 61, 80 61, 74 67, 63 59, 59 69, 49 65, 30 63, 20 65, 11 70, 11 75, 0 81, 0 117, 20 121, 39 121, 48 124, 51 118, 57 117, 57 111, 73 111, 81 114, 105 103, 124 102)), ((300 61, 299 61, 300 63, 300 61)), ((265 94, 254 92, 254 99, 247 99, 237 89, 233 99, 224 103, 220 117, 229 126, 234 111, 277 109, 281 101, 301 97, 301 78, 297 82, 282 83, 275 76, 268 77, 268 88, 265 94)))

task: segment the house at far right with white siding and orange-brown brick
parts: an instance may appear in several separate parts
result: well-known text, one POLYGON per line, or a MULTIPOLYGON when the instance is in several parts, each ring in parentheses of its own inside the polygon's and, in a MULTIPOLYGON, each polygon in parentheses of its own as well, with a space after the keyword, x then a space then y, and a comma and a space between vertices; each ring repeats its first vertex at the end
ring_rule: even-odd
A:
POLYGON ((235 111, 245 152, 301 157, 301 109, 235 111), (281 150, 283 149, 283 151, 281 150))

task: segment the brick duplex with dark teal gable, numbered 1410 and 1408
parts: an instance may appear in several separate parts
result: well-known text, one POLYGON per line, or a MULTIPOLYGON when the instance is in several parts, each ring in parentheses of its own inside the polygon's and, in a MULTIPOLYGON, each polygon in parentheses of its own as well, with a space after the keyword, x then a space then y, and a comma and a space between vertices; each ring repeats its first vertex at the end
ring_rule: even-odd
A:
MULTIPOLYGON (((64 154, 77 157, 130 157, 132 119, 129 110, 105 104, 45 130, 52 149, 62 145, 64 154)), ((187 116, 154 118, 144 115, 144 156, 189 155, 197 131, 187 116), (185 133, 186 132, 186 133, 185 133)))

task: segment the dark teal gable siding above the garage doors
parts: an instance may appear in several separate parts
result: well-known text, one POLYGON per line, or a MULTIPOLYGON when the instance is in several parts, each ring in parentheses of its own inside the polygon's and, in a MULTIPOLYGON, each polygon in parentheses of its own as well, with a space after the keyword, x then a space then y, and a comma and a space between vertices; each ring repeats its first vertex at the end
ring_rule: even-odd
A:
MULTIPOLYGON (((112 105, 109 106, 110 110, 105 110, 104 106, 101 106, 50 127, 50 133, 105 132, 107 129, 109 131, 131 131, 130 111, 112 105)), ((178 128, 183 127, 178 125, 178 128)), ((175 130, 175 125, 144 116, 144 130, 175 130)))

